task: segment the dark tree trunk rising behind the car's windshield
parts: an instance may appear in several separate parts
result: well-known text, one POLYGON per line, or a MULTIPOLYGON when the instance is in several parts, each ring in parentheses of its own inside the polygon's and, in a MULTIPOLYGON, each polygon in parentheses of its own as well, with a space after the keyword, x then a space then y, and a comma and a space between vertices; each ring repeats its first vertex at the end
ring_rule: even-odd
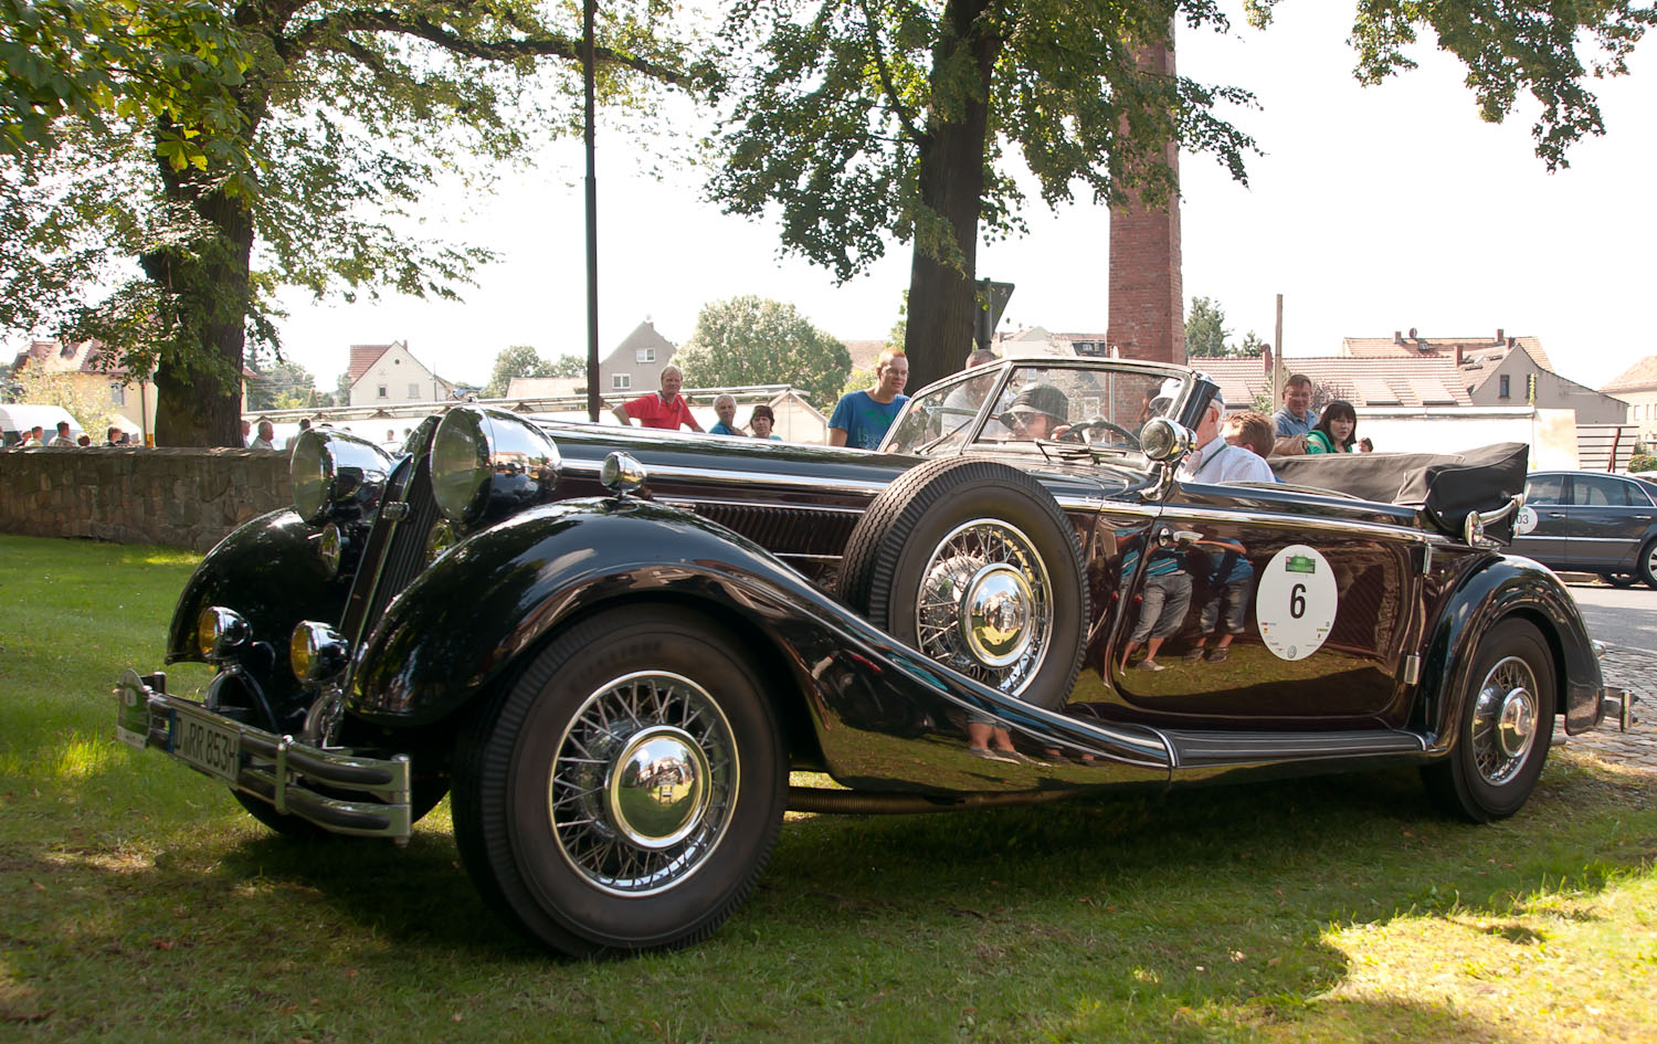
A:
MULTIPOLYGON (((984 197, 984 151, 989 133, 989 80, 1001 55, 1001 36, 978 23, 988 0, 949 0, 944 30, 933 53, 933 109, 920 149, 921 204, 949 227, 959 262, 940 259, 938 250, 916 235, 910 263, 910 305, 903 350, 910 356, 910 389, 954 373, 974 348, 978 321, 978 217, 984 197), (953 88, 946 75, 961 55, 976 73, 969 96, 944 101, 958 113, 940 114, 943 91, 953 88)), ((958 80, 956 80, 958 81, 958 80)))

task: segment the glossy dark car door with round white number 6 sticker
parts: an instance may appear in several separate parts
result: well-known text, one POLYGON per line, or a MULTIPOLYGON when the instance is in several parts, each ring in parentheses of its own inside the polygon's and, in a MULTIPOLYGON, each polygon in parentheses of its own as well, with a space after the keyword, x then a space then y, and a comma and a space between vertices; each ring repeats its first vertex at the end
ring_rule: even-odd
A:
POLYGON ((1150 547, 1110 663, 1133 716, 1191 727, 1365 727, 1397 718, 1405 656, 1422 626, 1423 540, 1410 510, 1185 484, 1152 527, 1150 547), (1150 611, 1158 618, 1147 620, 1150 611), (1162 669, 1143 668, 1158 633, 1162 669), (1220 645, 1225 655, 1211 656, 1220 645))

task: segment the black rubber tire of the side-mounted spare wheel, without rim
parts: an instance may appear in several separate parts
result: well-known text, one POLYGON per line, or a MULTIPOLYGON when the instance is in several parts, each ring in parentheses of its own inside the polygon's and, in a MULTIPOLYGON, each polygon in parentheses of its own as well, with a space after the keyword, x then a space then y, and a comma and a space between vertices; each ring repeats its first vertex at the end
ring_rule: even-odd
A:
MULTIPOLYGON (((847 540, 840 562, 840 600, 875 626, 913 645, 913 613, 908 605, 901 607, 905 611, 893 611, 900 608, 893 602, 893 587, 910 539, 940 514, 963 514, 956 509, 961 497, 981 494, 1001 499, 1002 504, 1022 500, 1036 512, 1036 519, 1051 527, 1047 537, 1056 553, 1044 558, 1056 603, 1052 646, 1021 698, 1046 706, 1060 704, 1069 699, 1082 671, 1084 638, 1090 621, 1087 570, 1070 519, 1039 481, 1016 467, 976 457, 941 457, 903 472, 875 497, 847 540), (1074 605, 1067 605, 1070 598, 1074 605), (1069 648, 1064 648, 1065 641, 1069 648)), ((988 514, 1001 517, 999 510, 988 514)), ((1027 535, 1042 542, 1039 532, 1027 535)))

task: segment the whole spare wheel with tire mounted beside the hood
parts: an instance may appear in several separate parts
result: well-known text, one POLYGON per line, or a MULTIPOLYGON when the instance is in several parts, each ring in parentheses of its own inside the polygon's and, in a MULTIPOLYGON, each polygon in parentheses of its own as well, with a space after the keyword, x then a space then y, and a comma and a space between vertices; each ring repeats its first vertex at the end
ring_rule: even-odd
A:
POLYGON ((868 505, 847 542, 840 597, 938 663, 1054 708, 1082 668, 1082 580, 1075 529, 1041 482, 944 457, 868 505))

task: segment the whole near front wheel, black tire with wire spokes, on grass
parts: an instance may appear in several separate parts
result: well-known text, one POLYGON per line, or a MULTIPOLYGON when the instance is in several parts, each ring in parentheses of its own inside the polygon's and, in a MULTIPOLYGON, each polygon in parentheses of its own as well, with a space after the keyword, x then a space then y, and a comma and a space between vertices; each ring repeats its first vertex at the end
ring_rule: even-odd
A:
POLYGON ((739 643, 668 607, 555 638, 461 737, 454 835, 472 882, 572 955, 684 946, 747 898, 787 759, 739 643))

